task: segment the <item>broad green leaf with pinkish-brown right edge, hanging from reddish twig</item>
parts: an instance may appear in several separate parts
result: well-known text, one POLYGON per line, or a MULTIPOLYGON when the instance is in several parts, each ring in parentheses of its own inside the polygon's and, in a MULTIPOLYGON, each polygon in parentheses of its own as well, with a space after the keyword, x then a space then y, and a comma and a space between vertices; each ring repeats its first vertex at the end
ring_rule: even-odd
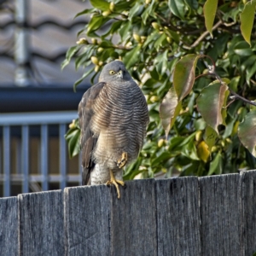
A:
POLYGON ((213 82, 201 90, 197 98, 197 108, 202 118, 218 132, 218 125, 223 124, 222 109, 226 99, 226 84, 213 82))

